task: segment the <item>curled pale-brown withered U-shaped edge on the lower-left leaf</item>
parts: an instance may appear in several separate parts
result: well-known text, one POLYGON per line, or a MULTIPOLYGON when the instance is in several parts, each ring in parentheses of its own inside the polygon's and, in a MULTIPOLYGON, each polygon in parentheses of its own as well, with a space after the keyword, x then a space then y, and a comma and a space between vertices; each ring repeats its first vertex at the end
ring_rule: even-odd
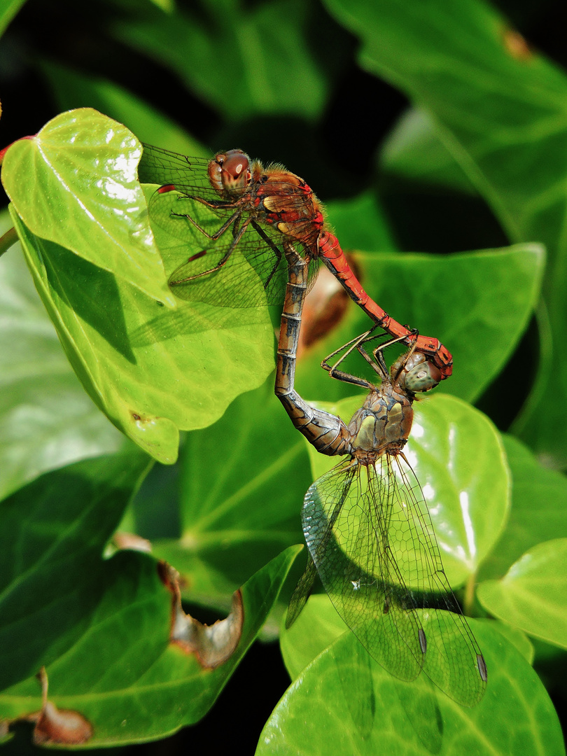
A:
POLYGON ((228 617, 209 626, 183 611, 177 570, 167 562, 160 562, 158 571, 163 584, 172 592, 171 642, 194 654, 203 668, 215 669, 224 664, 237 649, 242 634, 244 607, 240 590, 233 593, 228 617))

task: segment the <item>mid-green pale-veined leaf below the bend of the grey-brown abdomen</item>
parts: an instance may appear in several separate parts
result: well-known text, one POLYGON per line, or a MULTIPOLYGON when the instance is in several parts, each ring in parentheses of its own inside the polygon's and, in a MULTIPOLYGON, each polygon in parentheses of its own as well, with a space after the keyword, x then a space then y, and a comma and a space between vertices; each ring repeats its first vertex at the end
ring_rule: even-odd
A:
POLYGON ((252 572, 302 541, 308 457, 274 396, 273 376, 217 423, 187 435, 178 470, 180 538, 156 541, 155 553, 187 578, 187 599, 229 606, 252 572))

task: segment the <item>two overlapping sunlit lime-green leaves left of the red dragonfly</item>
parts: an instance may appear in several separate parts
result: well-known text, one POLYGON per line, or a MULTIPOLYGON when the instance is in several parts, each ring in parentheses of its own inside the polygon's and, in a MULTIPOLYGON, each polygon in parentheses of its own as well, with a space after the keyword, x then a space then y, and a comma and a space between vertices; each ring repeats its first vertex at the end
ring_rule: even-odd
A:
POLYGON ((211 330, 214 307, 195 313, 191 305, 174 299, 147 213, 139 204, 129 204, 146 207, 133 178, 141 145, 133 135, 125 143, 126 130, 118 126, 94 110, 64 113, 42 129, 38 144, 24 140, 11 147, 5 159, 5 186, 13 198, 14 221, 36 287, 79 380, 122 432, 157 460, 172 463, 178 430, 206 426, 222 415, 235 395, 265 380, 273 366, 273 336, 268 314, 259 308, 231 313, 233 330, 228 333, 211 330), (85 179, 82 191, 76 187, 73 194, 73 176, 89 175, 85 151, 75 147, 81 128, 88 138, 87 155, 97 166, 104 164, 106 172, 99 185, 85 179), (71 147, 65 152, 56 144, 54 156, 47 160, 43 141, 52 132, 71 147), (104 161, 98 150, 104 150, 104 161), (133 163, 125 160, 126 154, 133 163), (124 191, 116 176, 126 183, 124 191), (129 187, 130 181, 137 189, 129 187), (28 184, 40 197, 37 207, 33 193, 21 191, 28 184), (48 212, 49 206, 57 210, 48 212), (77 208, 82 208, 80 214, 77 208), (53 212, 61 212, 64 222, 55 222, 53 212), (38 224, 45 216, 50 218, 49 228, 42 230, 38 224), (89 241, 89 228, 95 229, 95 244, 89 241), (104 246, 107 236, 110 251, 104 246), (153 276, 138 260, 146 248, 153 276), (200 318, 200 327, 194 327, 191 316, 200 318), (187 322, 192 349, 175 338, 187 333, 187 322), (207 359, 212 350, 218 355, 216 368, 215 361, 207 359), (243 364, 245 351, 253 360, 248 368, 243 364), (223 378, 227 372, 233 375, 230 383, 223 378), (223 383, 222 394, 215 387, 223 383), (187 395, 193 397, 191 404, 187 395))

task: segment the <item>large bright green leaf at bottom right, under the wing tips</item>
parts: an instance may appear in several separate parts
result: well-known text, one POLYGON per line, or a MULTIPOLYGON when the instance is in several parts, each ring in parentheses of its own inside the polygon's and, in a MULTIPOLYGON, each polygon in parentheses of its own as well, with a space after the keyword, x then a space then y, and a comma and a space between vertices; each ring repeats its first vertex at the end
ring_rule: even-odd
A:
POLYGON ((490 623, 471 626, 488 665, 479 705, 461 708, 423 675, 401 683, 374 662, 365 667, 360 644, 345 634, 287 690, 256 754, 564 753, 537 674, 490 623))

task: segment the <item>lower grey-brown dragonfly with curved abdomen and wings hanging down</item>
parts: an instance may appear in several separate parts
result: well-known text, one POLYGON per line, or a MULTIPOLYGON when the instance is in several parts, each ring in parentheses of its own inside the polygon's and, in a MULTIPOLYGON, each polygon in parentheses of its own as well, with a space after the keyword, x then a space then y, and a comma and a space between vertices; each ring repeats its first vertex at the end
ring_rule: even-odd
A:
POLYGON ((403 452, 415 393, 437 386, 441 372, 413 346, 387 370, 386 344, 373 357, 364 349, 373 338, 369 332, 348 351, 358 349, 379 374, 380 387, 338 370, 341 360, 330 366, 333 355, 323 363, 333 377, 369 389, 349 425, 307 404, 294 389, 306 263, 292 246, 284 249, 290 278, 276 395, 321 454, 346 457, 305 495, 308 566, 291 598, 287 626, 318 574, 335 609, 376 662, 401 680, 414 680, 423 670, 451 699, 473 706, 485 692, 485 660, 445 576, 423 491, 403 452))

